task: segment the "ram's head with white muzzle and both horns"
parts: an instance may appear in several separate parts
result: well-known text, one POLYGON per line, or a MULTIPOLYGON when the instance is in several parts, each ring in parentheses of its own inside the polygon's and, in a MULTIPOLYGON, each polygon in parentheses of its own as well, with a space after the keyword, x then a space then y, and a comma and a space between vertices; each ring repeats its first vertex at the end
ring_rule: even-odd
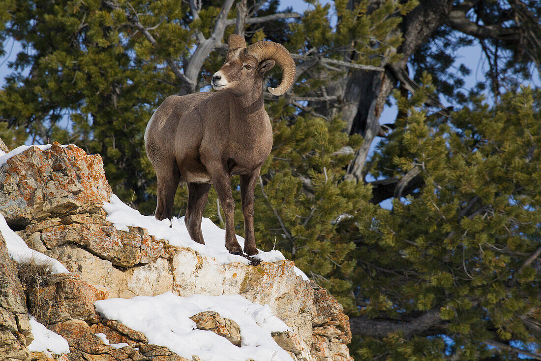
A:
POLYGON ((227 90, 237 95, 250 92, 261 86, 263 75, 278 64, 282 70, 282 81, 276 88, 268 87, 273 95, 282 95, 295 79, 295 62, 289 51, 272 41, 258 41, 246 47, 243 36, 230 35, 228 51, 223 66, 212 76, 215 90, 227 90))

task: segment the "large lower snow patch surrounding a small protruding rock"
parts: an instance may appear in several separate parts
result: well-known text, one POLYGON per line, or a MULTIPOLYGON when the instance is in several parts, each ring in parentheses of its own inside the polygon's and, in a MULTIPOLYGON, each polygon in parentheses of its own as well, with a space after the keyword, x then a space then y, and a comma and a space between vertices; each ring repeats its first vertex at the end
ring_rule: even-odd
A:
POLYGON ((167 292, 153 297, 96 301, 94 305, 104 317, 144 333, 149 344, 166 346, 188 359, 196 355, 202 361, 291 360, 271 337, 271 332, 289 327, 267 305, 254 304, 240 295, 180 297, 167 292), (190 317, 202 311, 215 311, 239 324, 241 347, 211 331, 195 329, 190 317))

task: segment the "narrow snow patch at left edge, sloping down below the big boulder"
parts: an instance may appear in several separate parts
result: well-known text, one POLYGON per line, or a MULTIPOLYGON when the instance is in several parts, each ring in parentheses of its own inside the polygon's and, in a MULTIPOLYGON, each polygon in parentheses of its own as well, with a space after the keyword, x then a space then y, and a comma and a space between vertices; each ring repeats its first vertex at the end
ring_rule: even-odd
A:
POLYGON ((52 274, 68 273, 68 269, 57 260, 30 249, 23 238, 19 237, 14 231, 9 228, 5 222, 4 216, 0 213, 0 233, 4 236, 8 246, 8 252, 11 259, 17 263, 35 262, 38 265, 48 266, 52 274))

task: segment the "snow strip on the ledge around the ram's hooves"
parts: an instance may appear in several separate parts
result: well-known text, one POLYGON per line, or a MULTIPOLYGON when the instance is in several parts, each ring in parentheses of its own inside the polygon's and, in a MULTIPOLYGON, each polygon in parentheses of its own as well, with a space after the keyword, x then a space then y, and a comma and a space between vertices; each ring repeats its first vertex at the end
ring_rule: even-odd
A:
MULTIPOLYGON (((201 231, 205 244, 200 244, 190 238, 184 224, 184 217, 173 217, 172 222, 169 220, 158 221, 154 216, 141 215, 137 210, 124 204, 116 195, 111 195, 109 203, 103 204, 103 209, 107 212, 107 220, 113 223, 118 230, 128 231, 128 226, 146 228, 149 234, 168 241, 171 246, 192 248, 200 254, 213 257, 220 265, 232 262, 249 264, 245 257, 233 255, 227 251, 225 246, 226 231, 215 225, 209 218, 201 220, 201 231)), ((238 235, 236 237, 240 246, 244 248, 244 238, 238 235)), ((263 262, 277 262, 286 259, 278 250, 269 252, 259 250, 259 252, 254 257, 263 262)), ((308 281, 308 277, 296 267, 295 274, 308 281)))

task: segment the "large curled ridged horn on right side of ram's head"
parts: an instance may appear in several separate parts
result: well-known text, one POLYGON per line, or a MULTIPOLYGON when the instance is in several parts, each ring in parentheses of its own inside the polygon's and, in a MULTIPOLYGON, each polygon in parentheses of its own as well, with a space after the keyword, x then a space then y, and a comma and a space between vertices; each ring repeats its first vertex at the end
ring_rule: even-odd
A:
MULTIPOLYGON (((233 35, 232 35, 233 36, 233 35)), ((272 41, 258 41, 246 48, 246 54, 255 57, 258 62, 274 60, 282 70, 282 81, 277 88, 268 87, 273 95, 282 95, 293 85, 295 80, 295 62, 286 48, 272 41)))

